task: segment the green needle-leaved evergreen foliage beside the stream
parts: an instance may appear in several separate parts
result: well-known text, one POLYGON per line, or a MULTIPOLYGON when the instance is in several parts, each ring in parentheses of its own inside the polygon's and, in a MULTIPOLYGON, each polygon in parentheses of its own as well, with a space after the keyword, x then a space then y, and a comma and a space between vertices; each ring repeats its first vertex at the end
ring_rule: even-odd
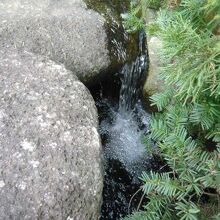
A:
MULTIPOLYGON (((137 14, 152 2, 161 1, 132 5, 125 21, 129 30, 144 27, 137 14)), ((220 219, 220 1, 176 1, 174 10, 169 2, 144 28, 163 42, 161 77, 167 86, 151 97, 158 113, 147 139, 156 141, 170 171, 143 173, 149 202, 126 219, 202 219, 204 195, 218 206, 219 213, 209 219, 220 219)))

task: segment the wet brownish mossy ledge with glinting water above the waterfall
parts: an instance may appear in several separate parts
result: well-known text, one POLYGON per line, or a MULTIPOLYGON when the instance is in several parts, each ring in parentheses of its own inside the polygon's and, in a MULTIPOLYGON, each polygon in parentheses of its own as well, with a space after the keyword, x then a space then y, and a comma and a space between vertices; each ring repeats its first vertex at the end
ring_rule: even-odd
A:
POLYGON ((120 67, 137 56, 135 43, 137 38, 128 35, 123 26, 122 14, 130 8, 130 0, 84 0, 89 8, 97 11, 105 18, 105 27, 108 36, 108 49, 111 59, 111 70, 117 72, 120 67))

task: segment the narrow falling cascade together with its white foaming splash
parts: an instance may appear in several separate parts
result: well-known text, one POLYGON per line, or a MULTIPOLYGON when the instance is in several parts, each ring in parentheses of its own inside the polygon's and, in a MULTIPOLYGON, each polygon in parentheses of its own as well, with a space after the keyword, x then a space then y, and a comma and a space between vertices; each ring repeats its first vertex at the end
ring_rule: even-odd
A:
POLYGON ((146 61, 145 34, 141 32, 137 58, 126 63, 120 73, 119 107, 111 107, 111 120, 103 120, 100 125, 101 134, 107 137, 105 158, 119 160, 135 181, 144 170, 147 157, 142 137, 148 126, 149 115, 139 102, 146 61))

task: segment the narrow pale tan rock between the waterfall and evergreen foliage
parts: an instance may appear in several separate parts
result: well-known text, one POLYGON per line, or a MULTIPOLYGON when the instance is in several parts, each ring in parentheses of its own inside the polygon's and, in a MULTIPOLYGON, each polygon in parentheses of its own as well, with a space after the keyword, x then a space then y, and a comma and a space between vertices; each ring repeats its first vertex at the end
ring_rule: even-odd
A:
POLYGON ((164 83, 160 78, 159 53, 162 48, 162 42, 158 37, 150 37, 148 39, 148 55, 149 55, 149 70, 146 82, 144 84, 144 96, 151 96, 157 92, 162 92, 164 83))

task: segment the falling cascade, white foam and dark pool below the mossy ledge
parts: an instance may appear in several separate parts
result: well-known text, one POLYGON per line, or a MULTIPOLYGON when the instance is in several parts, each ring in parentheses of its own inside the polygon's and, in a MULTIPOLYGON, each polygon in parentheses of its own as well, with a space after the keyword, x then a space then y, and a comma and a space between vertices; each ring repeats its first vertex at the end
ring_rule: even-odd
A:
POLYGON ((143 144, 150 119, 140 100, 147 68, 144 32, 137 41, 137 56, 114 75, 115 81, 102 82, 95 95, 105 161, 101 220, 121 219, 136 210, 142 194, 133 195, 142 171, 157 169, 143 144))

